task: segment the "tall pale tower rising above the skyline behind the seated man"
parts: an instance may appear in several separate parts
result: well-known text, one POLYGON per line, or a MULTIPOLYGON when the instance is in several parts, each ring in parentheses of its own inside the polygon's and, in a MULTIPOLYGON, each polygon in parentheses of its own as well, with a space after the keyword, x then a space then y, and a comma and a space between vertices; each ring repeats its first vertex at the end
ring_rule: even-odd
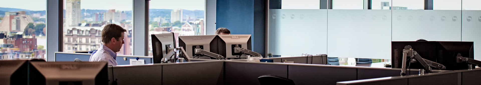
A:
POLYGON ((75 26, 81 20, 80 0, 66 0, 65 3, 65 26, 75 26))

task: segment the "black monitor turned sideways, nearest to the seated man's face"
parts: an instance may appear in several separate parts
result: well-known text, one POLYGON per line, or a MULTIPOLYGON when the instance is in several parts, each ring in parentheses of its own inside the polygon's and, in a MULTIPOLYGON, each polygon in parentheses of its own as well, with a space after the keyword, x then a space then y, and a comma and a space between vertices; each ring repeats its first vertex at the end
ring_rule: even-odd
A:
POLYGON ((154 34, 151 36, 153 63, 161 63, 162 58, 164 58, 168 51, 177 47, 174 33, 154 34))

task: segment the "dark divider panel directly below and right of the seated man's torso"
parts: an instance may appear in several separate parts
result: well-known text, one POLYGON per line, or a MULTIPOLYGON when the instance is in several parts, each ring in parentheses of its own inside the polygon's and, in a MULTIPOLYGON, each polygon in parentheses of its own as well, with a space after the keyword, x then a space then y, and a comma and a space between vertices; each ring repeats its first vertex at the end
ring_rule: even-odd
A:
MULTIPOLYGON (((108 68, 109 84, 112 84, 112 67, 108 68)), ((162 65, 114 67, 114 79, 118 85, 161 85, 162 65)))

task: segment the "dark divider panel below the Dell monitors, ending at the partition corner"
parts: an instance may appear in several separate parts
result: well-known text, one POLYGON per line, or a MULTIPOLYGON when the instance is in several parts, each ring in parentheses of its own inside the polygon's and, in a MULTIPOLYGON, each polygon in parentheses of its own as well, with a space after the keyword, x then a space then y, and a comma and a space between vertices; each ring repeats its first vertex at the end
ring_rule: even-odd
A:
POLYGON ((224 85, 223 61, 171 64, 162 68, 162 85, 224 85))

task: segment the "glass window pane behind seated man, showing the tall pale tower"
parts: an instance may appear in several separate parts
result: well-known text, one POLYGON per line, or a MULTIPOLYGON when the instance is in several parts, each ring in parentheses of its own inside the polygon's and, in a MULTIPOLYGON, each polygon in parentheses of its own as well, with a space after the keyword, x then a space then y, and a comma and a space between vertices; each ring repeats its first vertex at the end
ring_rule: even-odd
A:
POLYGON ((127 32, 125 44, 117 54, 131 55, 132 0, 63 0, 63 48, 64 52, 97 50, 101 42, 102 29, 106 24, 117 24, 127 32), (108 3, 108 4, 105 4, 108 3), (87 42, 97 40, 96 42, 87 42), (69 39, 72 41, 68 42, 69 39), (92 49, 87 49, 92 47, 92 49), (96 48, 93 48, 96 47, 96 48))

